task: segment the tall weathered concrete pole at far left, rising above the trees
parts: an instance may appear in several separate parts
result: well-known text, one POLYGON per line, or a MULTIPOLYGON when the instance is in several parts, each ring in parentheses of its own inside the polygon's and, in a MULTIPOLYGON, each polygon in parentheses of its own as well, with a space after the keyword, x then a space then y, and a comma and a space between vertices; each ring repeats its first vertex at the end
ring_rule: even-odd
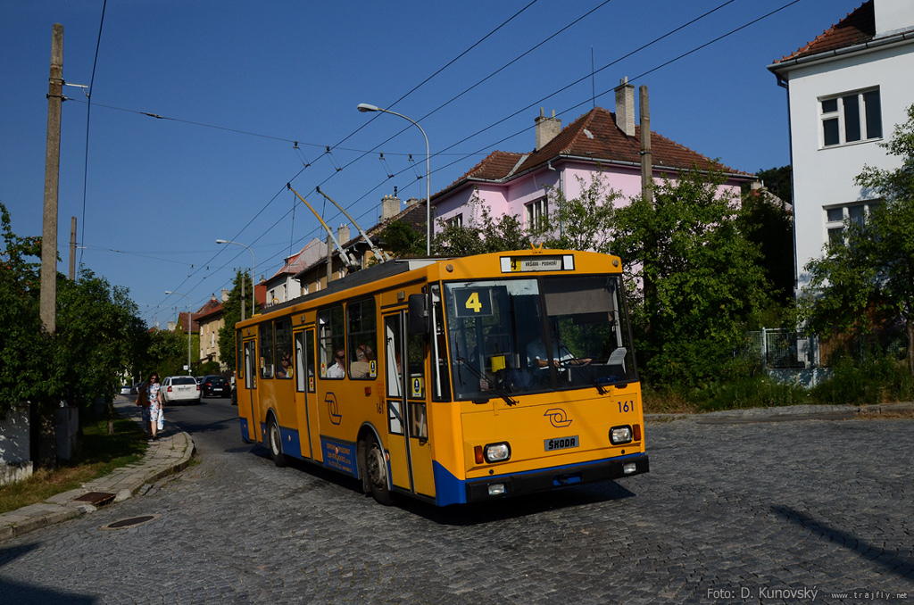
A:
POLYGON ((63 26, 55 23, 51 36, 48 79, 48 143, 45 152, 45 208, 41 227, 41 323, 57 332, 57 215, 60 174, 60 105, 63 103, 63 26))

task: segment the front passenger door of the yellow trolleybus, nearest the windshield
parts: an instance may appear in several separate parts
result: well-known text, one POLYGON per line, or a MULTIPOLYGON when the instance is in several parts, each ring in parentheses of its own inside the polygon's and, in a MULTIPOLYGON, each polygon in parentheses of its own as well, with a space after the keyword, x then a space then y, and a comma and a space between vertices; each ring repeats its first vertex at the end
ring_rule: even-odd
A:
POLYGON ((425 388, 425 344, 406 334, 406 313, 384 317, 388 450, 392 483, 435 495, 425 388))

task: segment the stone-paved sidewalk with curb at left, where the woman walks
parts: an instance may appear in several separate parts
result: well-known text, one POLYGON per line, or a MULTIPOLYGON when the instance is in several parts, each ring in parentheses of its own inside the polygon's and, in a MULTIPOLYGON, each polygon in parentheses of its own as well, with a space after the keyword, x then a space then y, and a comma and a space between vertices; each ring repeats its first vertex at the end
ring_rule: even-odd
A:
MULTIPOLYGON (((141 410, 133 402, 116 398, 114 408, 122 417, 133 418, 137 422, 141 420, 141 410)), ((149 449, 142 461, 117 469, 79 489, 0 515, 0 542, 45 525, 94 513, 99 506, 126 500, 140 492, 143 486, 184 470, 194 455, 194 441, 186 432, 170 426, 167 417, 165 431, 161 434, 163 436, 158 440, 149 442, 149 449)))

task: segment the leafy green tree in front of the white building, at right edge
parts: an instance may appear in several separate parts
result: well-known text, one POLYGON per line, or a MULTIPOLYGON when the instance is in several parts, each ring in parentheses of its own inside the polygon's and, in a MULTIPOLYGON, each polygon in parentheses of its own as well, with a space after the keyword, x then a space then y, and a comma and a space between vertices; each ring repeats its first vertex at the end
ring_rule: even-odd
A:
POLYGON ((900 320, 908 340, 908 369, 914 373, 914 105, 897 124, 888 154, 901 158, 894 170, 865 165, 856 184, 871 204, 862 224, 846 223, 845 239, 825 246, 806 265, 810 282, 800 301, 802 318, 815 330, 872 331, 900 320))

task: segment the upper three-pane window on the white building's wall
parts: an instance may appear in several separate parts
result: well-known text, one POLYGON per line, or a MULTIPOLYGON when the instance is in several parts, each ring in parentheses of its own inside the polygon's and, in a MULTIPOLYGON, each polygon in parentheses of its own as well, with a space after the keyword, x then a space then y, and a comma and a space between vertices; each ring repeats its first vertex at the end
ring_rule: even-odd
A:
POLYGON ((882 138, 879 89, 819 100, 822 146, 882 138))

